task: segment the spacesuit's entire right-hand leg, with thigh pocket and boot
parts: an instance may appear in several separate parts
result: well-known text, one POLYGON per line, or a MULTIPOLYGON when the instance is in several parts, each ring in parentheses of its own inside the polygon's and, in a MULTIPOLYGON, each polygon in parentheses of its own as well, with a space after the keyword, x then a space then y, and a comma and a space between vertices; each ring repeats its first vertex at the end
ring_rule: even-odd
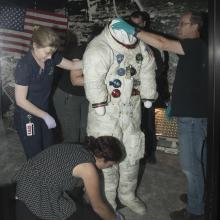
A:
POLYGON ((140 106, 136 105, 136 115, 130 120, 130 124, 124 129, 123 143, 126 149, 126 158, 119 164, 119 187, 118 198, 123 205, 126 205, 133 212, 144 215, 147 211, 146 205, 135 195, 139 172, 139 161, 144 156, 144 134, 141 132, 140 106), (135 118, 136 117, 136 118, 135 118))

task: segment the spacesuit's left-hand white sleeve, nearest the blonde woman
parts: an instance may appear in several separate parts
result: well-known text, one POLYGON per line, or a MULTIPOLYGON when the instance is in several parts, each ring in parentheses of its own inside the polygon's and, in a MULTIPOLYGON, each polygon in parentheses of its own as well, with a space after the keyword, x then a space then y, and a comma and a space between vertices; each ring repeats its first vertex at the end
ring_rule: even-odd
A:
POLYGON ((112 63, 111 59, 112 54, 108 46, 99 44, 98 41, 89 45, 83 55, 84 87, 86 97, 92 105, 107 103, 105 79, 112 63))

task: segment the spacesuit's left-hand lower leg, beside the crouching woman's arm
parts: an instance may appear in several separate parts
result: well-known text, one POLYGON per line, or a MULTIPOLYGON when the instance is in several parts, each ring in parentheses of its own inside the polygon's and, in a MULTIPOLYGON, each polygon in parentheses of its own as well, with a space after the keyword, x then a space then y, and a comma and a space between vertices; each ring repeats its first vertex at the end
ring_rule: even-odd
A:
POLYGON ((104 190, 105 190, 105 197, 111 205, 111 207, 116 211, 117 204, 116 204, 116 193, 119 181, 119 174, 118 174, 118 165, 114 165, 111 168, 103 169, 104 174, 104 190))

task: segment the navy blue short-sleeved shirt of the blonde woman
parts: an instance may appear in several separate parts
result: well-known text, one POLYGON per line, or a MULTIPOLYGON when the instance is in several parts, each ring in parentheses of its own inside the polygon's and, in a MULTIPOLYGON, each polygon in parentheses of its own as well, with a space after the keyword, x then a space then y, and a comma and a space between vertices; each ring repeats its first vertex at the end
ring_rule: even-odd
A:
MULTIPOLYGON (((49 95, 54 78, 54 68, 62 60, 62 55, 55 53, 45 62, 42 69, 34 59, 31 51, 19 60, 15 69, 15 83, 28 86, 27 100, 38 108, 47 111, 49 95)), ((17 109, 20 109, 17 106, 17 109)))

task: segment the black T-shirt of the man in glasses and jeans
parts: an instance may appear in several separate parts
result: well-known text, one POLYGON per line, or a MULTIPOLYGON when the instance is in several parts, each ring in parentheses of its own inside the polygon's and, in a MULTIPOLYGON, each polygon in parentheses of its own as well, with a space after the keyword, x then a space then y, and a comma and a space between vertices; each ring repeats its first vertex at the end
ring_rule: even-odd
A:
POLYGON ((179 56, 172 91, 172 115, 203 118, 208 114, 208 49, 201 39, 180 41, 185 55, 179 56))

